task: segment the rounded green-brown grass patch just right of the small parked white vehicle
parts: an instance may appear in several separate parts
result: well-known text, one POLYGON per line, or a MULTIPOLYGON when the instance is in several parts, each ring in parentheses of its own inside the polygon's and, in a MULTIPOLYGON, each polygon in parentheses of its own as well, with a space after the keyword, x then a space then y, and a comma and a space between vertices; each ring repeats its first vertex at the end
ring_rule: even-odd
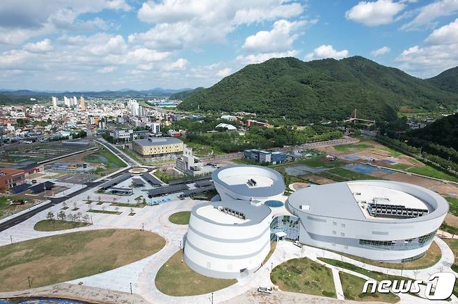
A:
POLYGON ((285 292, 335 298, 331 269, 307 257, 288 260, 274 268, 271 281, 285 292))

